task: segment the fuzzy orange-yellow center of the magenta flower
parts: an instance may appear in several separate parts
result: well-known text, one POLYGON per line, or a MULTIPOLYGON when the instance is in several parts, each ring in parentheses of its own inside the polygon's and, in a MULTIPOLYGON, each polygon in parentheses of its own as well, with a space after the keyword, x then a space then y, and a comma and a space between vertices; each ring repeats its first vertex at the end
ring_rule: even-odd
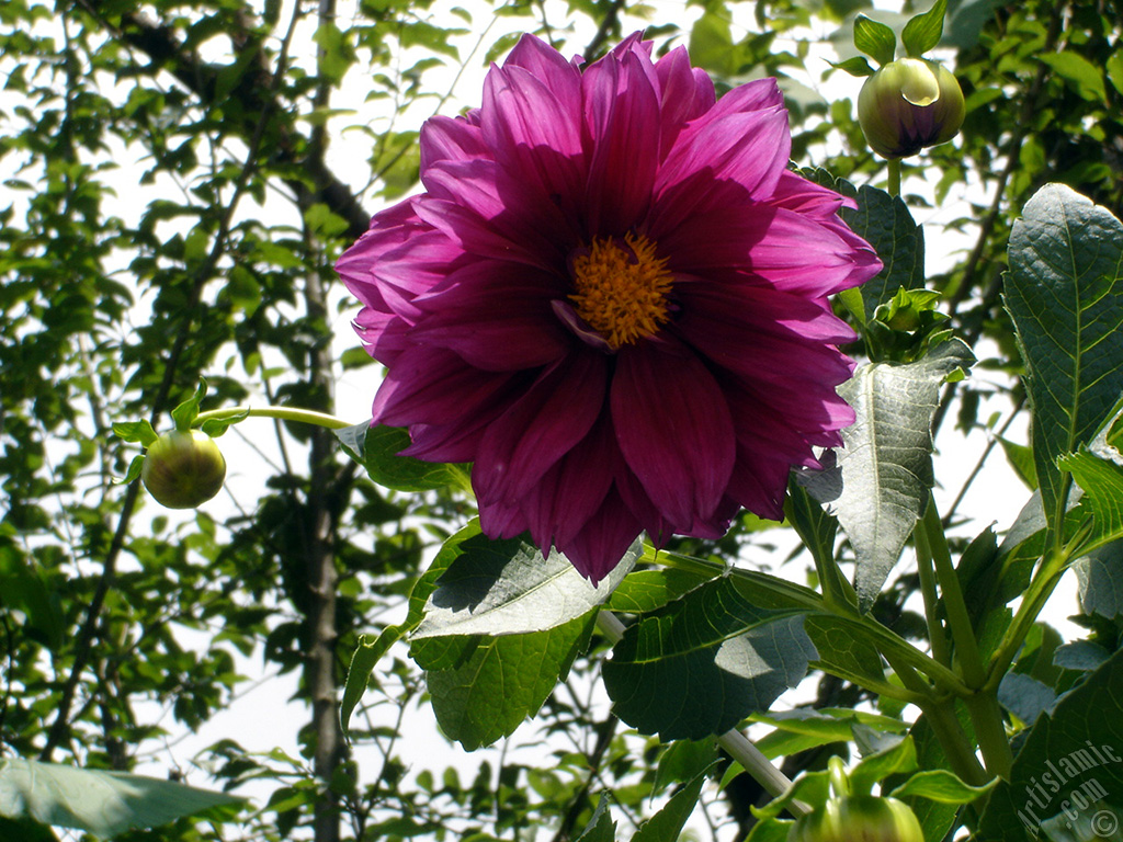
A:
POLYGON ((594 237, 587 253, 573 258, 569 296, 577 315, 600 333, 612 350, 655 336, 669 319, 667 294, 672 275, 655 244, 640 234, 594 237))

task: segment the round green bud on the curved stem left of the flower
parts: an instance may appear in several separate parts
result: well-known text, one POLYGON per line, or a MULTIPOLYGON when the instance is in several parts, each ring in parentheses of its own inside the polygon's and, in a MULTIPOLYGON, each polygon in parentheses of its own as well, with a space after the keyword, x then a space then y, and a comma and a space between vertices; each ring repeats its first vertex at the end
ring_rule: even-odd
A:
POLYGON ((214 439, 199 430, 166 432, 153 442, 140 482, 161 505, 194 509, 218 494, 226 459, 214 439))

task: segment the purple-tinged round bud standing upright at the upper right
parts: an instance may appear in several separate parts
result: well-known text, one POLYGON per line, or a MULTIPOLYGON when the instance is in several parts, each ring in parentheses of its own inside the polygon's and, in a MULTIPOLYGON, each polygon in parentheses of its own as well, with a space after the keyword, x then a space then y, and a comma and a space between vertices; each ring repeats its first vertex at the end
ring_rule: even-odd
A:
POLYGON ((964 92, 948 70, 923 58, 898 58, 866 80, 858 122, 885 158, 906 158, 956 136, 964 125, 964 92))

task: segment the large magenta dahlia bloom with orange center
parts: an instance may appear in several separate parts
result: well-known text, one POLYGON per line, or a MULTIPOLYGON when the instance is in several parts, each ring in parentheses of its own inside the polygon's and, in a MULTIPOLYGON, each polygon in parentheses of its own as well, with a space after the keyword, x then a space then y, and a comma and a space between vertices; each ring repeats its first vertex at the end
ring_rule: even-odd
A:
POLYGON ((853 420, 827 296, 880 268, 789 146, 775 80, 718 100, 682 48, 633 35, 583 68, 524 36, 336 266, 387 368, 373 423, 475 463, 483 530, 594 583, 643 530, 780 519, 853 420))

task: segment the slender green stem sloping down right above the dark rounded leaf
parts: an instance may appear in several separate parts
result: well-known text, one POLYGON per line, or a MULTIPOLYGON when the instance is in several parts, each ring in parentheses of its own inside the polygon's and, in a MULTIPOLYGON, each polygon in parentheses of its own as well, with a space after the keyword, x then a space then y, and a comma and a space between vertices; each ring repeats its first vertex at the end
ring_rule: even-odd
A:
MULTIPOLYGON (((768 574, 745 570, 739 567, 730 569, 716 561, 693 558, 678 552, 667 552, 665 550, 655 552, 649 549, 645 553, 643 560, 651 564, 660 564, 665 567, 687 570, 706 577, 728 574, 730 576, 736 576, 739 579, 752 583, 761 592, 770 593, 774 596, 778 596, 784 600, 791 607, 801 608, 816 614, 830 614, 836 620, 850 625, 856 632, 865 634, 865 637, 874 646, 880 649, 882 653, 885 655, 886 658, 893 656, 894 658, 898 658, 905 663, 911 665, 920 672, 931 678, 932 681, 934 681, 935 685, 942 690, 958 695, 967 695, 971 692, 970 688, 964 684, 964 679, 960 678, 953 670, 920 651, 916 647, 886 629, 868 614, 859 614, 856 610, 850 610, 846 606, 828 606, 823 601, 823 597, 811 588, 796 585, 792 582, 785 582, 784 579, 776 578, 775 576, 769 576, 768 574)), ((849 677, 847 678, 849 680, 849 677)), ((886 687, 888 687, 888 685, 886 685, 886 687)), ((868 687, 868 689, 875 688, 868 687)), ((897 695, 901 695, 900 689, 892 689, 897 695)), ((877 688, 877 692, 880 693, 882 689, 877 688)), ((917 702, 915 698, 910 698, 909 701, 917 702)))

